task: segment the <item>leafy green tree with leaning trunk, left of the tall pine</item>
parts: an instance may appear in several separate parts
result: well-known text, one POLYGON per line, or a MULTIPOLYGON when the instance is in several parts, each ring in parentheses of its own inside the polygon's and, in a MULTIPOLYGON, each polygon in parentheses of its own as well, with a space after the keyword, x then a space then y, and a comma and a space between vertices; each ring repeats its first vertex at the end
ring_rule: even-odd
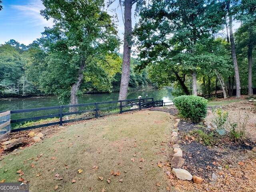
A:
MULTIPOLYGON (((78 104, 77 94, 86 66, 116 51, 119 45, 115 25, 103 11, 103 0, 42 2, 46 7, 41 11, 42 16, 47 20, 53 18, 55 23, 53 28, 46 28, 41 40, 48 51, 48 73, 55 76, 57 82, 52 92, 62 98, 70 98, 72 105, 78 104)), ((70 108, 70 111, 76 110, 70 108)))

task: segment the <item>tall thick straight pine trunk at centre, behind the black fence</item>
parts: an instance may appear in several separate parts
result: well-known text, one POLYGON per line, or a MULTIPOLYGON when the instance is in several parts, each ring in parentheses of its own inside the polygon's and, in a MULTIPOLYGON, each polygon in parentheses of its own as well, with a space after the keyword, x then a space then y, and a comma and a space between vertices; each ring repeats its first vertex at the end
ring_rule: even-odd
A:
POLYGON ((122 76, 118 100, 126 100, 132 48, 132 1, 124 0, 124 53, 122 62, 122 76))

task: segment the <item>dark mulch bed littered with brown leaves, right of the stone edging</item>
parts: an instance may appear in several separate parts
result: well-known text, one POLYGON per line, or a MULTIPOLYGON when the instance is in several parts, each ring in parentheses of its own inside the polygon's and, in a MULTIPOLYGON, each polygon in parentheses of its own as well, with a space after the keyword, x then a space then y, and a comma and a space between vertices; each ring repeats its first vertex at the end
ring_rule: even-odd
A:
POLYGON ((227 136, 215 134, 217 143, 212 147, 205 146, 203 143, 196 142, 189 138, 188 133, 194 129, 203 130, 206 133, 211 132, 207 128, 200 128, 202 125, 189 121, 181 120, 178 124, 179 136, 182 142, 180 148, 183 151, 185 159, 184 169, 192 175, 197 174, 206 180, 212 178, 212 173, 218 170, 218 166, 233 167, 239 161, 245 159, 246 150, 251 150, 256 146, 251 141, 243 143, 234 143, 227 136), (188 136, 188 140, 184 137, 188 136))

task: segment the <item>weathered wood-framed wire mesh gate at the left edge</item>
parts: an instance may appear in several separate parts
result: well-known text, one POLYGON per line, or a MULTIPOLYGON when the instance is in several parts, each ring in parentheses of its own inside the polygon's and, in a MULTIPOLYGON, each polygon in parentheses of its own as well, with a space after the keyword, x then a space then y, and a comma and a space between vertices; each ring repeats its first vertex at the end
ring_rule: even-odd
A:
POLYGON ((0 113, 0 140, 8 136, 10 132, 10 111, 0 113))

